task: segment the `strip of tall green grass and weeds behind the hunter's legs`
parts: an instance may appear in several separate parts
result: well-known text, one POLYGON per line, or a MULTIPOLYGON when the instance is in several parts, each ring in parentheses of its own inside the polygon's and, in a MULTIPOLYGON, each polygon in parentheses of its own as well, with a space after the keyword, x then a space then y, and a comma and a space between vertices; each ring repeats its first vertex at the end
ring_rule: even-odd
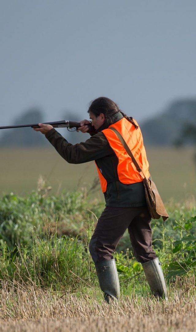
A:
MULTIPOLYGON (((37 287, 52 287, 62 293, 69 290, 80 294, 84 286, 97 287, 88 243, 103 208, 97 199, 89 200, 83 192, 55 197, 48 196, 42 188, 42 193, 38 190, 26 197, 3 196, 0 279, 31 281, 37 287)), ((171 205, 168 210, 169 220, 153 220, 152 229, 154 250, 170 280, 195 273, 196 208, 190 202, 189 208, 171 205)), ((121 288, 131 295, 139 283, 145 283, 145 277, 133 256, 127 233, 115 258, 121 288)), ((140 287, 138 290, 141 292, 140 287)), ((147 286, 143 291, 147 292, 147 286)))

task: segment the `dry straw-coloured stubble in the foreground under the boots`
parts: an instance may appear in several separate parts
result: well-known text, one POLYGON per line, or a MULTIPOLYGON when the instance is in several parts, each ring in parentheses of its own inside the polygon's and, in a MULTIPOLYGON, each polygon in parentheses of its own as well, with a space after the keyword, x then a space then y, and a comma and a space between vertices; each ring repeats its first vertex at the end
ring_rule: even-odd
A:
POLYGON ((177 278, 170 299, 158 301, 133 295, 109 305, 83 295, 57 296, 17 282, 2 282, 1 331, 195 331, 195 279, 177 278))

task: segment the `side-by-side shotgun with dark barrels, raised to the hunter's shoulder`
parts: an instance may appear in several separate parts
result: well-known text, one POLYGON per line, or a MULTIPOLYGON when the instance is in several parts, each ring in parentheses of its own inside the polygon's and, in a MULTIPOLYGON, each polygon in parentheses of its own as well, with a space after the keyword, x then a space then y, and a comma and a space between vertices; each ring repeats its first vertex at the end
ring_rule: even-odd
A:
MULTIPOLYGON (((54 127, 54 128, 65 127, 68 130, 69 130, 69 128, 70 129, 75 128, 75 130, 77 130, 77 128, 79 128, 81 126, 79 122, 68 121, 68 120, 43 122, 43 124, 51 124, 52 127, 54 127)), ((23 127, 40 128, 39 124, 18 124, 18 125, 0 127, 0 129, 23 128, 23 127)), ((71 130, 69 130, 69 131, 71 131, 71 130)), ((88 133, 89 134, 95 133, 95 128, 91 124, 88 124, 88 133)))

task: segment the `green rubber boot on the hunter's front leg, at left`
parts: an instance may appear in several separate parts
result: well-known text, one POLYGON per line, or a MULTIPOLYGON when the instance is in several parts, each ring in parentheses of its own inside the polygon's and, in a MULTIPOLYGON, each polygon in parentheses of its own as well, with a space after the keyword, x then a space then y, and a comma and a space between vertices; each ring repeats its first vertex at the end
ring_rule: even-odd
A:
POLYGON ((120 293, 120 286, 115 259, 96 263, 95 267, 105 301, 108 303, 110 299, 116 301, 120 293))

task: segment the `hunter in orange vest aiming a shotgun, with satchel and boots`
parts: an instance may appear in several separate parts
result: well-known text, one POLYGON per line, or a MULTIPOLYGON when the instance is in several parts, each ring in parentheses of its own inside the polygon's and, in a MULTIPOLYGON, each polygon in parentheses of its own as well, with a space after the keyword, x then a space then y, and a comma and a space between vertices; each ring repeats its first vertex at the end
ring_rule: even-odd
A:
POLYGON ((107 97, 93 100, 88 115, 91 121, 22 124, 0 129, 33 127, 33 130, 45 135, 66 162, 83 164, 95 161, 106 207, 89 241, 89 253, 105 301, 118 301, 120 295, 113 253, 126 229, 152 294, 167 299, 161 263, 152 248, 150 223, 152 217, 162 216, 166 220, 168 214, 158 192, 152 194, 152 188, 149 188, 152 181, 140 126, 107 97), (71 144, 55 130, 56 127, 95 134, 83 142, 71 144))

